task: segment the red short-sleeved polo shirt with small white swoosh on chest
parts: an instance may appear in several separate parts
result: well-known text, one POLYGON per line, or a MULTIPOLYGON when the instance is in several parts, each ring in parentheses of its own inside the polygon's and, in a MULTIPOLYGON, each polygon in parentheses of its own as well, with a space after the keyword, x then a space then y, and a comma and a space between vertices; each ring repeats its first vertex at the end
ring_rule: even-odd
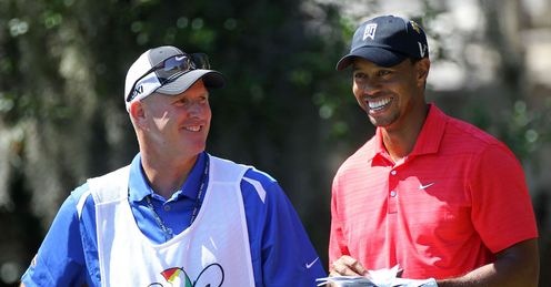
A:
POLYGON ((370 270, 449 278, 538 237, 520 163, 491 135, 431 105, 409 156, 393 163, 381 131, 339 168, 330 264, 350 255, 370 270))

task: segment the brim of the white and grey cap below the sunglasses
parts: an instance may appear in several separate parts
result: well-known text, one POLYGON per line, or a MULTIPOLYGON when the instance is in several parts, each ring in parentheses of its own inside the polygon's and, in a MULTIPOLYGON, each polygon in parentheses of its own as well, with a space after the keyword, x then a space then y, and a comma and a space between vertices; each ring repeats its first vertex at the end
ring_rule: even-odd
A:
POLYGON ((173 82, 156 90, 161 94, 180 94, 188 90, 197 80, 202 79, 206 88, 223 88, 226 81, 220 72, 213 70, 192 70, 176 79, 173 82))

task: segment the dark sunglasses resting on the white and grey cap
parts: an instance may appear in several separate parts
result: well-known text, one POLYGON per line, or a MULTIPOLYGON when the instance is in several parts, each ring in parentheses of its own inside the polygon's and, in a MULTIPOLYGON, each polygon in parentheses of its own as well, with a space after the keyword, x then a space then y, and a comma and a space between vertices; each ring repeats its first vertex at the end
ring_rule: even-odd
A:
POLYGON ((176 54, 167 58, 136 80, 132 84, 132 89, 130 89, 130 92, 127 95, 127 102, 132 101, 141 93, 141 91, 138 91, 137 85, 150 73, 156 72, 156 78, 159 81, 160 86, 163 86, 173 82, 178 76, 197 69, 210 69, 209 57, 206 53, 176 54))

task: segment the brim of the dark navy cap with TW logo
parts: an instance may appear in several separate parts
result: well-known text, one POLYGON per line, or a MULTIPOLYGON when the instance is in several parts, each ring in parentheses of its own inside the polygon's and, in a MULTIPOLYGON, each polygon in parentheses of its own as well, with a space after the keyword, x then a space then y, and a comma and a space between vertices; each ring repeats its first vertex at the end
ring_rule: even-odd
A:
POLYGON ((390 68, 393 65, 397 65, 401 63, 403 60, 405 60, 405 55, 393 52, 390 50, 387 50, 384 48, 379 48, 379 47, 360 47, 355 49, 354 51, 350 52, 349 54, 344 55, 338 63, 337 63, 337 71, 342 71, 350 64, 352 64, 353 60, 355 57, 363 58, 370 62, 375 63, 377 65, 380 66, 385 66, 390 68))

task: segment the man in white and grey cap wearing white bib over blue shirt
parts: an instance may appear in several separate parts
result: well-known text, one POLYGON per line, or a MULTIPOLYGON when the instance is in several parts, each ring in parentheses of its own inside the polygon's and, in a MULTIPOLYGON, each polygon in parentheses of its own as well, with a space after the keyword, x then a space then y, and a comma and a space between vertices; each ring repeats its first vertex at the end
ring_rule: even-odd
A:
POLYGON ((208 154, 206 54, 144 52, 124 101, 140 152, 61 206, 26 286, 314 286, 324 270, 279 184, 208 154))

